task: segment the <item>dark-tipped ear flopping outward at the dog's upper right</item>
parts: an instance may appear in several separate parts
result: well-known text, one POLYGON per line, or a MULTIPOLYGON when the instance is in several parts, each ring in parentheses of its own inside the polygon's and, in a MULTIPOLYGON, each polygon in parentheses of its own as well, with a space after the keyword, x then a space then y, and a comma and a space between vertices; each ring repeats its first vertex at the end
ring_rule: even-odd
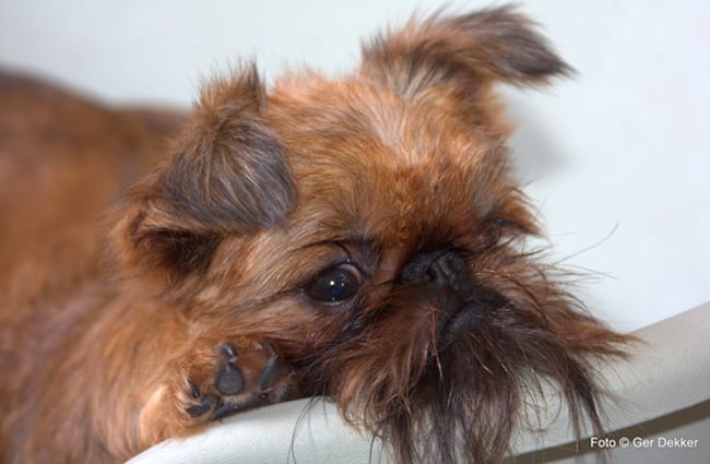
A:
POLYGON ((443 11, 363 46, 363 71, 412 95, 453 83, 469 92, 493 81, 526 86, 571 72, 511 7, 447 16, 443 11))

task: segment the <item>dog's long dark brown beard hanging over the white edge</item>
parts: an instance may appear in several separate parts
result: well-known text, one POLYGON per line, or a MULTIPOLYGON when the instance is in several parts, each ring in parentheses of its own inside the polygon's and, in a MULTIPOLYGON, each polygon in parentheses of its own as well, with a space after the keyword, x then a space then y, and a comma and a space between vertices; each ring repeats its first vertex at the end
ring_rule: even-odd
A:
POLYGON ((307 377, 350 421, 390 443, 400 463, 498 462, 525 397, 542 395, 547 381, 577 431, 588 418, 601 432, 587 355, 618 355, 623 337, 572 309, 541 269, 519 265, 528 271, 506 275, 501 289, 403 285, 376 311, 360 310, 309 359, 307 377))

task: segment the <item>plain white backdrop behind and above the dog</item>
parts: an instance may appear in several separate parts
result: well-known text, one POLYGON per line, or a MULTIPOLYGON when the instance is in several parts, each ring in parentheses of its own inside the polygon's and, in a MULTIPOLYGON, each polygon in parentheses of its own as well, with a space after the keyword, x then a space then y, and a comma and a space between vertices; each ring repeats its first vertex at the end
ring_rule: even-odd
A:
MULTIPOLYGON (((439 4, 1 0, 0 64, 111 103, 188 105, 203 78, 238 57, 268 76, 286 62, 345 71, 359 37, 439 4)), ((622 330, 710 300, 710 3, 521 8, 579 71, 545 92, 507 91, 520 170, 555 257, 596 273, 584 298, 622 330)))

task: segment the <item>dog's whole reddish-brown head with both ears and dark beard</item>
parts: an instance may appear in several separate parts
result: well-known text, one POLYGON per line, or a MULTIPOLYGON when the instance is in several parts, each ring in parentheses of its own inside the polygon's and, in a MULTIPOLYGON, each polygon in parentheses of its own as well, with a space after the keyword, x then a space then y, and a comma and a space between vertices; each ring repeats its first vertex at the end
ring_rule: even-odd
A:
POLYGON ((537 229, 492 93, 567 71, 497 9, 413 21, 338 81, 217 80, 121 212, 123 269, 271 341, 402 462, 497 460, 541 377, 597 423, 585 356, 623 338, 523 249, 537 229))

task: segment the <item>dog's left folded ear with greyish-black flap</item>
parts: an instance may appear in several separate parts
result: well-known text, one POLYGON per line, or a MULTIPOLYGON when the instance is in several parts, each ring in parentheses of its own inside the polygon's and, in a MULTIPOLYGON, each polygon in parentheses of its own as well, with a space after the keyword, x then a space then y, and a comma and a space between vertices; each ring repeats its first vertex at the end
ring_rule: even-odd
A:
POLYGON ((255 67, 205 86, 171 155, 119 212, 111 242, 125 272, 177 283, 206 270, 227 234, 286 221, 295 188, 264 105, 255 67))

